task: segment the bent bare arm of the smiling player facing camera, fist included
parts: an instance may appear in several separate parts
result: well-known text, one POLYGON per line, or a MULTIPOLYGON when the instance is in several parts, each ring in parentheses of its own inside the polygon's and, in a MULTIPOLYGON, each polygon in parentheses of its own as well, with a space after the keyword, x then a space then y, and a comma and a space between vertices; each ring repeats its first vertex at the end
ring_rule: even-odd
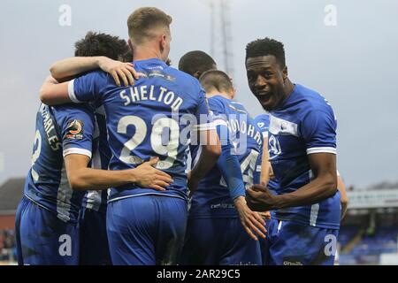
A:
POLYGON ((337 191, 336 156, 314 153, 308 156, 314 179, 293 193, 272 195, 268 188, 255 185, 247 191, 249 208, 256 211, 279 210, 318 203, 337 191))

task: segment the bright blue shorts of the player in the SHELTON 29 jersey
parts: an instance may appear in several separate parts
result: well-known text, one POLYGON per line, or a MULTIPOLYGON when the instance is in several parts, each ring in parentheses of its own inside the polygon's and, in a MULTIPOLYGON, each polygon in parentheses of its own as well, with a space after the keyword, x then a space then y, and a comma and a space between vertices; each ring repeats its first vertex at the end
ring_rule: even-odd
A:
POLYGON ((109 203, 106 221, 112 264, 177 264, 187 218, 187 202, 171 196, 142 195, 109 203))

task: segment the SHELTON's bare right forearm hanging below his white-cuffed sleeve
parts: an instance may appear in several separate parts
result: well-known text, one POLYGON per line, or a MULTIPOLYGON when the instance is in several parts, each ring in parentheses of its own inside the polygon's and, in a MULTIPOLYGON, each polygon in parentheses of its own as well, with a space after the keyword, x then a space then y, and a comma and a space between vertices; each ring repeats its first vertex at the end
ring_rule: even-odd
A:
POLYGON ((192 195, 200 180, 210 171, 217 163, 218 157, 221 155, 221 143, 215 129, 198 131, 202 144, 202 152, 196 162, 194 168, 188 174, 188 188, 192 195))

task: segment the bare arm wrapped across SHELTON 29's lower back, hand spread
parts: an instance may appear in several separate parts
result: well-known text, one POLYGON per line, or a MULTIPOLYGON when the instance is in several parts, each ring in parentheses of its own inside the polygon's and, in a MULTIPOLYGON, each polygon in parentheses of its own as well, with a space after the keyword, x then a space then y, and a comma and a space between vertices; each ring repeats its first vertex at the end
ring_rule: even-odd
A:
POLYGON ((65 169, 73 190, 100 190, 109 187, 136 183, 141 187, 150 187, 164 191, 172 184, 172 177, 155 169, 158 158, 145 162, 134 169, 108 171, 88 168, 89 157, 70 154, 65 157, 65 169))

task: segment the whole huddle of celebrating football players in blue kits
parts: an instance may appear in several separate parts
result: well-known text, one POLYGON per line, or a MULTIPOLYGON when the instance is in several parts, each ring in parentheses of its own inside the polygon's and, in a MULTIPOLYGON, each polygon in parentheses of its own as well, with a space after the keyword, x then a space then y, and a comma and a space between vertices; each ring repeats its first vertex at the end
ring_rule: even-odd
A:
POLYGON ((90 32, 50 67, 19 264, 333 264, 347 197, 331 105, 266 37, 246 48, 252 119, 205 52, 170 66, 171 23, 139 8, 128 44, 90 32))

